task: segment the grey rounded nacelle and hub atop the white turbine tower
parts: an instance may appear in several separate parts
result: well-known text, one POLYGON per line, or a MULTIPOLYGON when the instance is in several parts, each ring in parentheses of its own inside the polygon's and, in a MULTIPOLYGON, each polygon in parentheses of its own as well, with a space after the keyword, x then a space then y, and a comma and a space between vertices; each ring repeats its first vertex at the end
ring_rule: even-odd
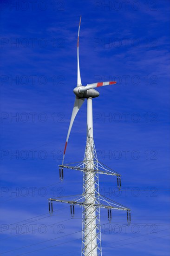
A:
POLYGON ((90 97, 91 98, 96 98, 100 95, 99 92, 95 89, 85 90, 84 88, 86 88, 86 86, 75 87, 73 92, 74 92, 74 94, 76 94, 76 96, 78 98, 85 98, 85 99, 90 98, 90 97), (82 92, 81 92, 81 90, 82 90, 82 92))

